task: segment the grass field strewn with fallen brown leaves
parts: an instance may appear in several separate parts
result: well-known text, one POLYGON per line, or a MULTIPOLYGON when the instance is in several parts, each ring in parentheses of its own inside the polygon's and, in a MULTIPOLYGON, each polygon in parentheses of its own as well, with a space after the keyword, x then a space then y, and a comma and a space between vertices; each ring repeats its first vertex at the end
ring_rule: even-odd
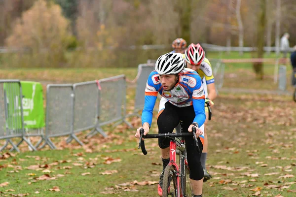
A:
MULTIPOLYGON (((272 65, 266 78, 255 80, 252 66, 226 65, 224 87, 274 90, 272 65)), ((289 66, 288 66, 288 71, 289 66)), ((126 74, 136 68, 100 69, 0 69, 0 78, 48 83, 75 83, 126 74)), ((289 83, 289 81, 288 81, 289 83)), ((127 95, 133 110, 135 89, 127 95)), ((204 184, 203 197, 295 197, 296 109, 290 97, 220 93, 208 125, 207 167, 213 178, 204 184)), ((156 114, 150 133, 156 133, 156 114)), ((141 120, 128 119, 137 128, 141 120)), ((157 140, 146 140, 148 155, 137 149, 135 129, 122 124, 105 126, 109 135, 66 144, 55 138, 59 150, 0 153, 0 196, 28 197, 156 197, 162 169, 157 140)), ((34 142, 36 138, 31 138, 34 142)), ((0 142, 3 142, 1 140, 0 142)))

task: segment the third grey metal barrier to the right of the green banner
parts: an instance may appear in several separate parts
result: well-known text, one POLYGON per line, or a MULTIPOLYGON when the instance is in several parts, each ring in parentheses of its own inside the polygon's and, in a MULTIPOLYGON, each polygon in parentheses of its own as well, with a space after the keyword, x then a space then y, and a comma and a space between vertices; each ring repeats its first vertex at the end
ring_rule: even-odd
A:
MULTIPOLYGON (((125 75, 117 75, 99 80, 100 94, 100 121, 99 125, 107 125, 117 122, 117 125, 124 122, 130 128, 133 126, 126 121, 126 79, 125 75)), ((88 137, 98 131, 92 131, 88 137)))

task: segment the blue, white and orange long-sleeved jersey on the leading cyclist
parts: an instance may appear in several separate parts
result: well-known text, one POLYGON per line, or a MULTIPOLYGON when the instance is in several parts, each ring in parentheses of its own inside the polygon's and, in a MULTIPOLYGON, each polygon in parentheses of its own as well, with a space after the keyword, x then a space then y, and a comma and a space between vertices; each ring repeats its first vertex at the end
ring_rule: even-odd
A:
POLYGON ((154 70, 150 73, 145 90, 145 105, 142 113, 142 124, 145 122, 151 125, 152 112, 157 98, 157 94, 167 99, 177 107, 193 105, 195 118, 193 122, 203 125, 205 115, 205 95, 201 83, 201 78, 196 71, 185 68, 179 73, 179 82, 170 91, 163 90, 159 80, 159 74, 154 70))

